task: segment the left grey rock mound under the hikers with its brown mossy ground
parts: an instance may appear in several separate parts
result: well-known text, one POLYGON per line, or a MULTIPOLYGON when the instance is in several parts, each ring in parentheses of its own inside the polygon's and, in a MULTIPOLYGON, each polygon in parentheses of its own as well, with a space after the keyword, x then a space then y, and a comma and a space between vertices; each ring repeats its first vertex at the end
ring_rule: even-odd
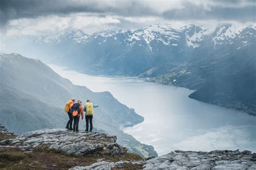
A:
POLYGON ((0 126, 0 136, 0 169, 69 169, 99 160, 142 159, 127 153, 116 136, 98 132, 43 129, 16 137, 0 126))

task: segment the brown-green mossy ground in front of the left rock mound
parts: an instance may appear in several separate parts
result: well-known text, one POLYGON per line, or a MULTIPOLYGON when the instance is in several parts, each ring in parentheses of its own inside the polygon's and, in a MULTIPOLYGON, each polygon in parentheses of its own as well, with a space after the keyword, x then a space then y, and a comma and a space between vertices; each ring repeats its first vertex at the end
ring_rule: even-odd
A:
MULTIPOLYGON (((46 147, 37 148, 33 152, 22 152, 18 148, 0 147, 0 169, 69 169, 75 166, 87 166, 97 162, 97 159, 105 161, 141 160, 134 153, 124 153, 116 157, 106 155, 91 155, 81 157, 69 155, 57 150, 49 150, 46 147)), ((126 165, 128 169, 138 165, 126 165)), ((136 167, 134 167, 136 169, 136 167)))

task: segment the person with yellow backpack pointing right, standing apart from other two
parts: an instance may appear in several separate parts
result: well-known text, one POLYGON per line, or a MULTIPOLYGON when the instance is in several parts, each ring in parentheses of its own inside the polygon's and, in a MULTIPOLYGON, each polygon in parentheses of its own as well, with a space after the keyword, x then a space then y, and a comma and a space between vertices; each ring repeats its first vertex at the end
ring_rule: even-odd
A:
POLYGON ((86 121, 86 132, 89 129, 89 121, 90 121, 90 132, 92 131, 92 115, 93 115, 93 108, 99 107, 98 105, 93 105, 91 100, 88 99, 87 103, 85 103, 84 106, 84 112, 85 112, 85 121, 86 121))

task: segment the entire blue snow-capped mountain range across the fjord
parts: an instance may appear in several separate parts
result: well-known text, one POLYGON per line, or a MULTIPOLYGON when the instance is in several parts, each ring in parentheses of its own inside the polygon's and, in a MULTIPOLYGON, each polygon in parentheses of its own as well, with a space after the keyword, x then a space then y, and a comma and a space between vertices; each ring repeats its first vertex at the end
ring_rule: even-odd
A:
POLYGON ((137 30, 91 35, 73 31, 3 42, 4 52, 87 74, 147 77, 195 89, 190 97, 197 100, 256 115, 255 25, 154 24, 137 30))

